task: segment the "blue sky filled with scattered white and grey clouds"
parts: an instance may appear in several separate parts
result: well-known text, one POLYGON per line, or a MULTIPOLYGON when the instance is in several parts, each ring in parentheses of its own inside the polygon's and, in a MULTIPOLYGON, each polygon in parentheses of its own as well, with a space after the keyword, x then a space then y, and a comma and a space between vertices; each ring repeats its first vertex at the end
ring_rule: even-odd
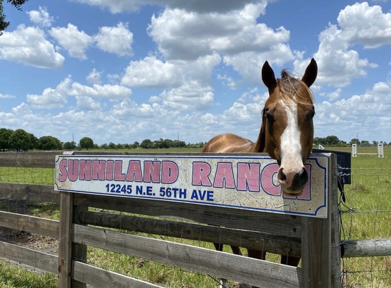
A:
POLYGON ((318 78, 315 136, 391 141, 387 0, 4 3, 0 127, 61 141, 256 140, 260 70, 318 78))

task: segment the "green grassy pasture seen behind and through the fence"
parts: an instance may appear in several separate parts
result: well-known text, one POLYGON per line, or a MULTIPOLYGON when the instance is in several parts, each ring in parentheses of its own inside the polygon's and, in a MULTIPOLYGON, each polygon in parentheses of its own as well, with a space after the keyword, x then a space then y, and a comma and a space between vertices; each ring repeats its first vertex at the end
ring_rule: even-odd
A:
MULTIPOLYGON (((327 148, 351 152, 350 147, 327 148)), ((156 149, 156 150, 131 150, 131 152, 199 152, 200 149, 156 149)), ((113 152, 118 150, 113 150, 113 152)), ((105 150, 107 152, 107 150, 105 150)), ((359 153, 376 153, 377 147, 359 147, 359 153)), ((377 158, 375 155, 359 155, 352 158, 352 184, 345 186, 346 203, 341 204, 343 210, 341 233, 345 239, 376 239, 391 238, 391 148, 384 147, 385 158, 377 158)), ((53 184, 54 171, 48 168, 10 168, 0 167, 1 182, 16 182, 29 184, 53 184)), ((58 207, 47 203, 23 203, 1 202, 1 209, 8 212, 30 214, 39 217, 58 219, 58 207)), ((102 211, 115 213, 115 211, 102 211)), ((110 229, 110 228, 108 228, 110 229)), ((122 231, 125 232, 125 231, 122 231)), ((129 232, 127 232, 129 233, 129 232)), ((132 232, 134 234, 153 236, 145 231, 132 232)), ((4 238, 5 232, 1 235, 4 238)), ((16 238, 16 235, 15 235, 16 238)), ((214 249, 212 243, 203 241, 186 240, 181 238, 165 237, 167 240, 188 243, 214 249), (196 242, 196 243, 195 243, 196 242)), ((48 241, 30 237, 34 245, 44 246, 45 249, 54 249, 55 241, 48 241), (41 241, 41 242, 39 242, 41 241), (45 242, 46 241, 46 242, 45 242), (43 243, 45 242, 45 243, 43 243), (38 244, 37 244, 38 243, 38 244), (45 245, 44 245, 45 244, 45 245), (52 246, 50 246, 52 245, 52 246)), ((228 246, 224 251, 231 252, 228 246)), ((245 250, 242 250, 246 254, 245 250)), ((89 262, 94 265, 118 273, 133 275, 139 279, 145 279, 170 287, 217 287, 216 279, 211 276, 178 270, 174 267, 152 263, 144 259, 120 255, 106 250, 88 247, 89 262)), ((276 255, 268 254, 267 260, 277 261, 276 255)), ((343 287, 391 287, 391 256, 371 258, 345 258, 343 287)), ((28 268, 18 267, 5 261, 0 263, 0 287, 47 287, 55 286, 56 277, 51 274, 39 274, 30 272, 28 268), (29 275, 32 273, 31 275, 29 275), (23 276, 23 281, 20 277, 23 276), (34 277, 33 277, 34 275, 34 277), (19 280, 18 280, 19 279, 19 280), (29 280, 31 279, 31 280, 29 280), (39 283, 39 284, 38 284, 39 283)), ((230 283, 231 286, 237 283, 230 283)))

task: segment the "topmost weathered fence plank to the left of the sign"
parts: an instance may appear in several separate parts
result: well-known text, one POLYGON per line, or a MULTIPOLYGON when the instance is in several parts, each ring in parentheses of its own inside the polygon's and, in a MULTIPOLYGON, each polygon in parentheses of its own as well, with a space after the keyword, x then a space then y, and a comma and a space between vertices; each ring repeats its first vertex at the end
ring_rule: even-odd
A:
POLYGON ((0 153, 0 167, 54 168, 56 155, 61 153, 62 151, 0 153))

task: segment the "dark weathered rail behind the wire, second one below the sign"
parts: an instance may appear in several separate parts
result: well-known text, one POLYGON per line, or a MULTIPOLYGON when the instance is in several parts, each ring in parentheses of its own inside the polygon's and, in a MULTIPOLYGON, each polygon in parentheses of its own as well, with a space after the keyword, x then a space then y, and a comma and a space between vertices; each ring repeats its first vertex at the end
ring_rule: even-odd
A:
POLYGON ((222 243, 276 254, 286 255, 288 252, 289 256, 300 257, 301 255, 301 238, 288 238, 209 225, 91 211, 86 211, 81 217, 85 225, 90 224, 183 239, 222 243))

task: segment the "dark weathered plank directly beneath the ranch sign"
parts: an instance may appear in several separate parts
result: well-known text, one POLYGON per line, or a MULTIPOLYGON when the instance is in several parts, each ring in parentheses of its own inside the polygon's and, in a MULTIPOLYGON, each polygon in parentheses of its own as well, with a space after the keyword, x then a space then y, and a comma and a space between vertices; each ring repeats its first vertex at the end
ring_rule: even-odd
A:
POLYGON ((281 236, 296 238, 301 236, 301 218, 298 216, 150 199, 126 198, 125 200, 122 197, 81 193, 74 194, 74 203, 79 206, 142 215, 182 218, 215 226, 262 231, 281 236))

